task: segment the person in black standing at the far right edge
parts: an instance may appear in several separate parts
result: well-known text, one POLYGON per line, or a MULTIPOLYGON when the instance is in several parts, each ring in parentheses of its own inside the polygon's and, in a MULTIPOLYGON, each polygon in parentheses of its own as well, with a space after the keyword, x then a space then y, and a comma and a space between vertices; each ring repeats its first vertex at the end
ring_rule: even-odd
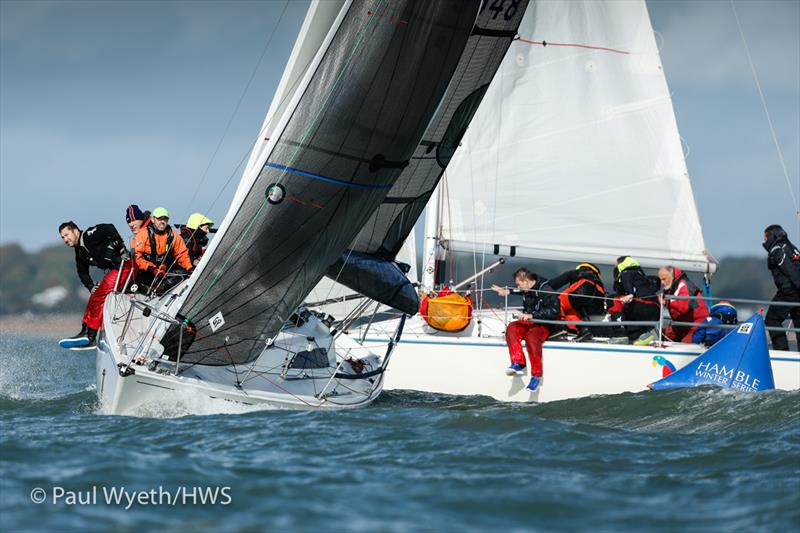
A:
MULTIPOLYGON (((800 304, 800 251, 789 242, 786 231, 777 224, 764 230, 764 249, 767 251, 767 267, 778 292, 773 302, 793 302, 800 304)), ((800 327, 800 305, 794 307, 769 307, 764 323, 767 326, 780 327, 787 317, 792 317, 794 327, 800 327)), ((783 331, 770 331, 772 347, 775 350, 788 350, 789 339, 783 331)), ((800 333, 796 334, 800 345, 800 333)))

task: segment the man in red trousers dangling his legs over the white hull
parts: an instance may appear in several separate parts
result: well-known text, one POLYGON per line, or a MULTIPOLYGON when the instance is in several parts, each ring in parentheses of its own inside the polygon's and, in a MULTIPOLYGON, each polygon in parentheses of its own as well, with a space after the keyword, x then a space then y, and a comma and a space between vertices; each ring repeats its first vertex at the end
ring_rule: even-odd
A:
POLYGON ((550 290, 546 285, 547 281, 541 280, 537 274, 527 268, 520 268, 514 272, 514 282, 517 288, 512 290, 492 285, 492 290, 500 296, 522 295, 522 313, 506 327, 506 343, 511 356, 511 366, 506 369, 506 375, 525 374, 525 353, 522 351, 524 339, 531 362, 528 389, 535 391, 542 378, 542 343, 550 335, 550 328, 545 324, 537 324, 535 320, 557 320, 561 311, 557 295, 535 290, 537 286, 542 290, 550 290))

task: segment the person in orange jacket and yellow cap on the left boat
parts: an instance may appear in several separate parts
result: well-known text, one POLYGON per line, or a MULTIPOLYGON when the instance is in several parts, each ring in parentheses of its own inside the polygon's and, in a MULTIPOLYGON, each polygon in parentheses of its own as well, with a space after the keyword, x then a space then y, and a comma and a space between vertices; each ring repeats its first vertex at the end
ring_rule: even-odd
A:
POLYGON ((173 270, 175 264, 187 272, 192 270, 189 250, 180 234, 170 227, 169 212, 163 207, 154 209, 151 223, 136 233, 133 250, 140 283, 153 284, 173 270))

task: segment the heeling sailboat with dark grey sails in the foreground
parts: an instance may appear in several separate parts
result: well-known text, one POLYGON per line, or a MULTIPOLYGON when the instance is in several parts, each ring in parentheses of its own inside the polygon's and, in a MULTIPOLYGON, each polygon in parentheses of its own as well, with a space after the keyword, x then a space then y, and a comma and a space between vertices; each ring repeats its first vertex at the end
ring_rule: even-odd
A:
POLYGON ((416 310, 394 255, 348 246, 373 214, 396 204, 395 191, 413 188, 410 170, 432 151, 431 125, 447 134, 436 157, 449 157, 526 3, 312 2, 195 271, 163 295, 108 297, 97 350, 101 409, 135 414, 187 395, 190 412, 202 399, 288 408, 373 401, 404 319, 374 351, 343 333, 358 313, 335 321, 302 303, 327 273, 416 310))

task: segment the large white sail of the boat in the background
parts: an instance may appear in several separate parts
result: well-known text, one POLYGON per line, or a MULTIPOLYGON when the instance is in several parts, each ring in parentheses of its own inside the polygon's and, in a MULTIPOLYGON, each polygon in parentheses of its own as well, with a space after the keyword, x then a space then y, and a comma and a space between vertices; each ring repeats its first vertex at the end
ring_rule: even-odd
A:
POLYGON ((532 4, 447 171, 453 251, 714 269, 644 1, 532 4))

